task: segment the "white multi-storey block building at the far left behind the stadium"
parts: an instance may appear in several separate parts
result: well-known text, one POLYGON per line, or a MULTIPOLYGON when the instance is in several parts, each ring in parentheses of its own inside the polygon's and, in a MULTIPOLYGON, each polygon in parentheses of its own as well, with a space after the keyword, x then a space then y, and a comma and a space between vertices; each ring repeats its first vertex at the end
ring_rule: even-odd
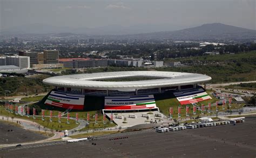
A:
POLYGON ((29 56, 6 56, 6 65, 15 65, 19 68, 30 68, 29 56))

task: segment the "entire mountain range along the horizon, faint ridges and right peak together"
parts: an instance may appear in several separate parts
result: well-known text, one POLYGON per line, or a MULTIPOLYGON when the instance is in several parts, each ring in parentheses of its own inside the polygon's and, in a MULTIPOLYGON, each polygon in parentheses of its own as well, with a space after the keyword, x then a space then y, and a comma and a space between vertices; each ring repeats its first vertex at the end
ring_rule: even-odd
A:
POLYGON ((66 36, 71 33, 90 35, 91 38, 97 35, 104 35, 109 39, 171 39, 171 40, 256 40, 256 30, 247 28, 225 25, 221 23, 204 24, 197 27, 185 28, 178 31, 161 31, 174 30, 176 25, 136 25, 136 26, 119 26, 109 25, 96 28, 79 27, 57 27, 42 24, 33 24, 19 26, 2 30, 3 34, 24 34, 24 33, 57 33, 58 36, 66 36), (167 27, 168 26, 168 27, 167 27), (70 32, 70 33, 68 33, 70 32), (152 32, 152 33, 147 33, 152 32))

